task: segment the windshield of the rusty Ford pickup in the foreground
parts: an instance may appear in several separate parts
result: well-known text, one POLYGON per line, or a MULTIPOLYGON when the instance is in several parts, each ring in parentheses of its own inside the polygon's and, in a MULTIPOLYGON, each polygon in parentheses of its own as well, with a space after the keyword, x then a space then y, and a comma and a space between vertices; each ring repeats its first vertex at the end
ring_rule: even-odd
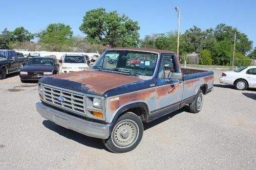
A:
POLYGON ((93 69, 124 72, 133 76, 153 76, 158 54, 129 50, 106 51, 93 69))

